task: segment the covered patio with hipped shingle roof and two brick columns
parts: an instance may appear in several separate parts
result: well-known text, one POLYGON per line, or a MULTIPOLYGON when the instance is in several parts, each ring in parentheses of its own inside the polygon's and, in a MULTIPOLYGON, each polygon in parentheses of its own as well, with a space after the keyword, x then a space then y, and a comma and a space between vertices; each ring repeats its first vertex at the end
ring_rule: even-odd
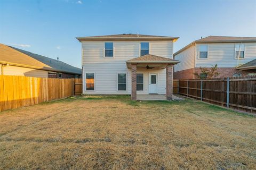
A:
MULTIPOLYGON (((131 60, 126 61, 126 65, 128 69, 132 71, 131 78, 131 99, 137 100, 137 69, 151 69, 151 70, 161 70, 166 69, 166 80, 165 80, 165 100, 172 100, 172 79, 173 79, 173 65, 179 63, 177 60, 172 60, 170 58, 165 58, 156 55, 143 55, 141 57, 133 58, 131 60)), ((152 75, 152 78, 153 75, 152 75)), ((153 84, 156 81, 156 77, 149 84, 153 84)), ((156 87, 158 88, 158 87, 156 87)), ((150 90, 148 92, 150 94, 150 90)), ((157 94, 157 92, 156 92, 157 94)), ((163 99, 163 96, 159 96, 163 99)))

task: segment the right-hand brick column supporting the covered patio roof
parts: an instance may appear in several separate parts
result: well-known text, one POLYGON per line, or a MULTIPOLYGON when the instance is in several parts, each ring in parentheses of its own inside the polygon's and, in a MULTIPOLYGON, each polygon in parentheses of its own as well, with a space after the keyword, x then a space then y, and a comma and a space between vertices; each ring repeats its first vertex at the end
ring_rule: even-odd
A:
POLYGON ((166 66, 166 100, 172 100, 172 64, 166 66))

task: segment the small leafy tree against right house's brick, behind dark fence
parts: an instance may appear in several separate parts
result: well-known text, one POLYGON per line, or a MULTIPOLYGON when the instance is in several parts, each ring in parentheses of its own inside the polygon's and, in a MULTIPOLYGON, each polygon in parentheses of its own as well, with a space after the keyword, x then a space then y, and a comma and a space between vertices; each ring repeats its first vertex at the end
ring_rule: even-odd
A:
POLYGON ((217 77, 220 73, 217 71, 217 64, 212 65, 211 68, 206 68, 206 67, 200 67, 201 73, 194 73, 197 78, 199 79, 205 79, 205 78, 213 78, 217 77))

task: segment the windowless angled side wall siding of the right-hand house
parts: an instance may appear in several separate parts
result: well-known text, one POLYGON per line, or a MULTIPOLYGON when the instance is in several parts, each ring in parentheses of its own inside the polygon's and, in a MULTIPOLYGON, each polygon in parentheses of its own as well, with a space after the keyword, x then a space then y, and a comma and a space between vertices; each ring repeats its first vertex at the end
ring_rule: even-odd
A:
POLYGON ((194 67, 194 56, 195 56, 195 46, 190 46, 189 48, 183 50, 181 53, 174 56, 175 60, 180 63, 174 65, 174 71, 187 70, 194 67))

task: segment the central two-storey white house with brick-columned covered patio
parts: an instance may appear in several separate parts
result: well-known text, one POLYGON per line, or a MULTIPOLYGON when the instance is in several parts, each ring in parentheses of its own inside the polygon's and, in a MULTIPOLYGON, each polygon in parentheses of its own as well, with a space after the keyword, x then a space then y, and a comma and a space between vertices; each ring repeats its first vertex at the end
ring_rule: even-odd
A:
POLYGON ((178 63, 173 60, 173 42, 178 37, 121 34, 77 39, 82 43, 83 94, 172 98, 172 67, 178 63))

